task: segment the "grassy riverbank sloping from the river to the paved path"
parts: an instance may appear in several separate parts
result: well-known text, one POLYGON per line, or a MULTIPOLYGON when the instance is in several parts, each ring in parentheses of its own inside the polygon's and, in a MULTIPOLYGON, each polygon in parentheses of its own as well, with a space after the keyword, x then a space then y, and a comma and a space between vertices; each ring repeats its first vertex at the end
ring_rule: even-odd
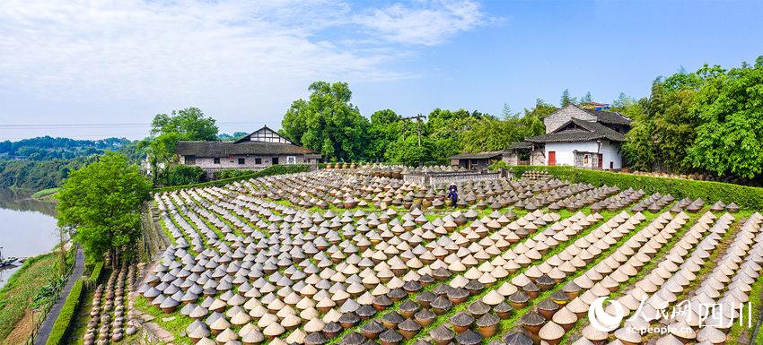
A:
MULTIPOLYGON (((73 260, 69 251, 67 265, 73 260)), ((0 344, 22 344, 34 332, 65 281, 59 265, 57 252, 31 257, 0 289, 0 344)))

